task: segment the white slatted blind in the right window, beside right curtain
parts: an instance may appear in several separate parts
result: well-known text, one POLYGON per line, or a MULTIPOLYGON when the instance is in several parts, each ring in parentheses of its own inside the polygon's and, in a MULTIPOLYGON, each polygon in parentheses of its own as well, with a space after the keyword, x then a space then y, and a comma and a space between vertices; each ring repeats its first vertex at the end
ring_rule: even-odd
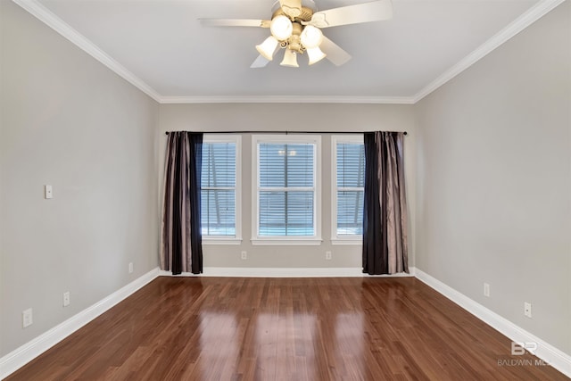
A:
POLYGON ((336 231, 335 236, 363 234, 365 147, 362 143, 336 142, 336 231))

